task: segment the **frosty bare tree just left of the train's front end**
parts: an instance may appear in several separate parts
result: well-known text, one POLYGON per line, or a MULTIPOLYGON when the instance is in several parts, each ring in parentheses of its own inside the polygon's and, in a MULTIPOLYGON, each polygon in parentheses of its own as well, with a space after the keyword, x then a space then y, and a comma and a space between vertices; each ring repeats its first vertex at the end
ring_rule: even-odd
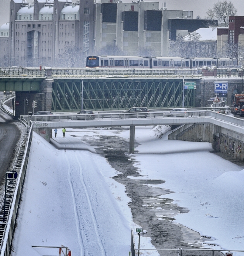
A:
POLYGON ((65 67, 78 67, 82 64, 82 59, 84 59, 82 50, 71 44, 65 44, 64 52, 59 54, 59 64, 65 67))

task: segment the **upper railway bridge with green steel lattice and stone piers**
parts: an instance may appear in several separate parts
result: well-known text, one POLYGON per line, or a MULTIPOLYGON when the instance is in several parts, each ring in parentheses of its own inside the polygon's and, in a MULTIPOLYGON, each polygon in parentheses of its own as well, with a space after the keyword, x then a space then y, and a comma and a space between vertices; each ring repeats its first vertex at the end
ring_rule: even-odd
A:
MULTIPOLYGON (((227 79, 228 99, 233 90, 243 89, 242 69, 85 69, 85 68, 2 68, 0 90, 16 92, 16 115, 25 99, 37 101, 38 110, 72 112, 80 109, 124 110, 134 106, 150 109, 182 106, 183 77, 196 82, 196 89, 185 89, 185 107, 203 107, 214 95, 214 80, 227 79), (82 100, 83 99, 83 100, 82 100), (83 103, 83 106, 81 106, 83 103)), ((24 113, 25 112, 25 113, 24 113)))

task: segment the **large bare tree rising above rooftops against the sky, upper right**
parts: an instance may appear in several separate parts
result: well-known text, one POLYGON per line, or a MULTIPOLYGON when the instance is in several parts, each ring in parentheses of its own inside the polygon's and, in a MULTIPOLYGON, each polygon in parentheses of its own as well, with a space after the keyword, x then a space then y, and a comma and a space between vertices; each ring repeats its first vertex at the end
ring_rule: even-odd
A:
POLYGON ((214 20, 217 18, 220 22, 223 22, 226 27, 229 24, 229 16, 236 15, 237 9, 231 1, 224 0, 223 2, 218 1, 213 5, 213 8, 207 10, 207 19, 214 20))

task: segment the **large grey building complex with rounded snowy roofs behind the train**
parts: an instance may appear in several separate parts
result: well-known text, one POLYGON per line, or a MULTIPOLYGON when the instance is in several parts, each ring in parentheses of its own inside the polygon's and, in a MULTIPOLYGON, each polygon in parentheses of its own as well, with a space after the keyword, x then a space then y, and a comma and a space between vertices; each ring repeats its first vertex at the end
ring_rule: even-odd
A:
POLYGON ((8 65, 58 66, 72 47, 82 60, 90 54, 167 56, 176 31, 207 26, 193 20, 192 11, 167 10, 166 3, 97 2, 11 0, 8 65))

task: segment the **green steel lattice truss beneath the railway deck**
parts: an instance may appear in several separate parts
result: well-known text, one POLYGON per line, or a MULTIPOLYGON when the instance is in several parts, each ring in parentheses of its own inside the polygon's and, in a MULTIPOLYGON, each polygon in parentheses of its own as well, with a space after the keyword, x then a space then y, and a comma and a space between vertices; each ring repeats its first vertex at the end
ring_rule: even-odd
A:
MULTIPOLYGON (((185 90, 185 107, 195 107, 195 90, 185 90)), ((52 85, 52 111, 78 111, 82 80, 60 79, 52 85)), ((182 106, 182 79, 84 79, 83 109, 123 110, 130 107, 182 106)))

